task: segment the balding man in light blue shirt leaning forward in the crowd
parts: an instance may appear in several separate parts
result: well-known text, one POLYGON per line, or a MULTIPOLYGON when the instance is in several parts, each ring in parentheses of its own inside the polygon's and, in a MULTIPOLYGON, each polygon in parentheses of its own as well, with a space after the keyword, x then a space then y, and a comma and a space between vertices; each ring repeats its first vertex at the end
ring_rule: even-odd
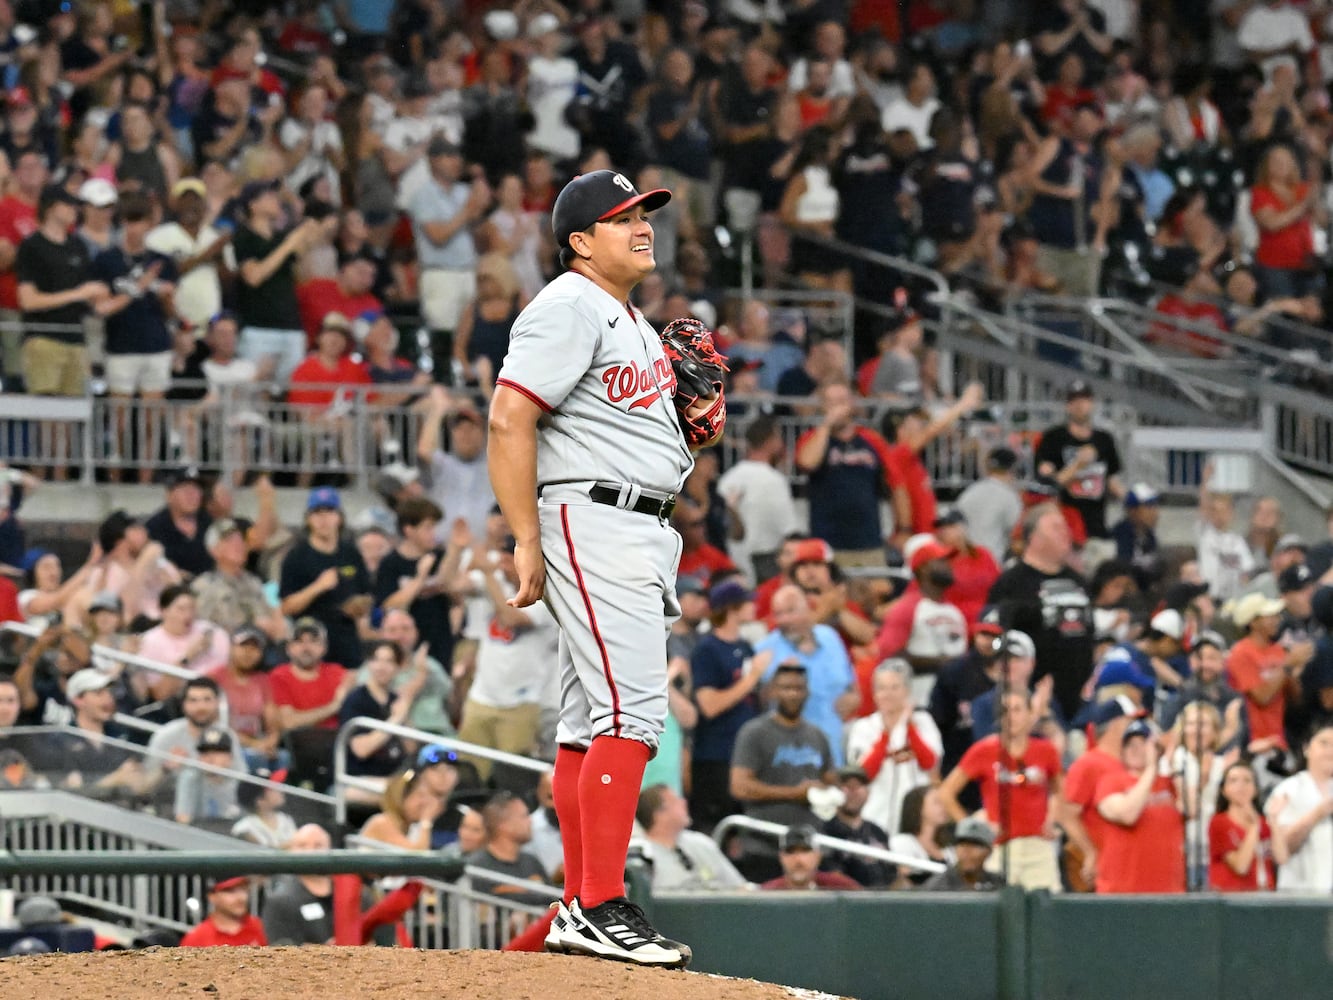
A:
POLYGON ((773 595, 773 631, 754 647, 756 653, 770 655, 764 680, 784 665, 800 665, 806 680, 804 717, 824 733, 834 767, 841 767, 842 721, 861 703, 846 647, 837 632, 814 621, 809 599, 797 587, 773 595))

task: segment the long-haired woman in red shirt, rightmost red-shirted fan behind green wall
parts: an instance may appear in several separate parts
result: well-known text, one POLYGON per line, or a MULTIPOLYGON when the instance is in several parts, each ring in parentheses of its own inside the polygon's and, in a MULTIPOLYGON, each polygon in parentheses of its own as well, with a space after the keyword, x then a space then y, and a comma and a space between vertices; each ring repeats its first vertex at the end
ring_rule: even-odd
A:
POLYGON ((1218 892, 1277 885, 1273 831, 1258 808, 1254 768, 1245 761, 1226 768, 1217 791, 1217 812, 1208 824, 1208 885, 1218 892))

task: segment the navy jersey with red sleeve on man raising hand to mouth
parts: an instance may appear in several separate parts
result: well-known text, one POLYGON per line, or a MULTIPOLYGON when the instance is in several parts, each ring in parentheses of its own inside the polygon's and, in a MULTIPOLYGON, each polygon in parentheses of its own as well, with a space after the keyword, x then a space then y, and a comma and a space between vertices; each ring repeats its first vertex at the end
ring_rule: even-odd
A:
POLYGON ((829 437, 824 461, 810 471, 805 484, 810 535, 834 549, 884 547, 880 496, 885 488, 888 452, 888 441, 865 428, 857 428, 849 441, 829 437))

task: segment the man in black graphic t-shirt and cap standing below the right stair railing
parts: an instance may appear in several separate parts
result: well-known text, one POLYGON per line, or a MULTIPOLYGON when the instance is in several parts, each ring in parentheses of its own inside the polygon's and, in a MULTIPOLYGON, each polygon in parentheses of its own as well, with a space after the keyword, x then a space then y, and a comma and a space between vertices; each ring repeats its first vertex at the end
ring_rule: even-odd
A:
MULTIPOLYGON (((1065 423, 1041 433, 1033 456, 1038 476, 1054 479, 1060 485, 1060 503, 1082 519, 1089 539, 1109 537, 1106 529, 1108 497, 1122 497, 1120 452, 1116 440, 1093 427, 1093 392, 1082 379, 1074 380, 1065 393, 1065 423)), ((1097 553, 1109 553, 1098 544, 1097 553)))

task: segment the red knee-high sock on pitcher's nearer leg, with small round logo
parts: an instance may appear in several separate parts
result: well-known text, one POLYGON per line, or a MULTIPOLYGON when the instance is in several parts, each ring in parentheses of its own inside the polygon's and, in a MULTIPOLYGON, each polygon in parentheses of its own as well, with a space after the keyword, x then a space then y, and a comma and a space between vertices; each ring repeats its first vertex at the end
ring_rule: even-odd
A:
POLYGON ((579 776, 584 845, 579 904, 584 909, 625 895, 625 852, 648 755, 648 745, 639 740, 599 736, 584 760, 579 776))

